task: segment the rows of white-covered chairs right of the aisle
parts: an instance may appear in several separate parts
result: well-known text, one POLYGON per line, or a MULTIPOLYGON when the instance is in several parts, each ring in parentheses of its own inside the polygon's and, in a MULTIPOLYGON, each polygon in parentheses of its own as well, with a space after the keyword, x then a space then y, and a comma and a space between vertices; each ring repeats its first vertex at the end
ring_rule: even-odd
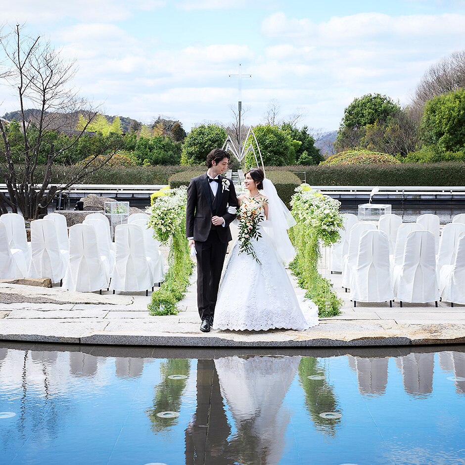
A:
POLYGON ((393 298, 429 302, 437 301, 439 295, 449 302, 465 303, 457 278, 465 267, 459 247, 465 224, 456 221, 444 227, 436 255, 439 221, 434 216, 422 215, 417 223, 396 226, 397 219, 392 218, 396 215, 384 215, 376 228, 372 223, 358 223, 355 215, 344 215, 346 229, 331 250, 330 270, 340 268, 342 287, 351 289, 354 305, 357 300, 393 298))

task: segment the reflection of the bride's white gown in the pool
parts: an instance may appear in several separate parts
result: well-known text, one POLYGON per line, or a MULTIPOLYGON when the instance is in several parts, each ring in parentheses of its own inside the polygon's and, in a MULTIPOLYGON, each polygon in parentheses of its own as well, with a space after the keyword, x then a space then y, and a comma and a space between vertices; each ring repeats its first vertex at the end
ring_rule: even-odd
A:
POLYGON ((215 360, 221 394, 237 428, 231 441, 236 461, 277 464, 290 420, 282 401, 301 357, 224 357, 215 360), (238 460, 239 459, 239 460, 238 460))

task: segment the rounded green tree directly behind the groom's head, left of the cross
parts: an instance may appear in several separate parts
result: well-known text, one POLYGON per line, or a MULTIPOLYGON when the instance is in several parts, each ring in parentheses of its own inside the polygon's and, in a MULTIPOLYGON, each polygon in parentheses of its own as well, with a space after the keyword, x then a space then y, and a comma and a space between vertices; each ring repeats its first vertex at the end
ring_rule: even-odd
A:
POLYGON ((225 140, 225 129, 216 124, 201 124, 192 128, 184 140, 181 165, 203 165, 208 152, 221 148, 225 140))

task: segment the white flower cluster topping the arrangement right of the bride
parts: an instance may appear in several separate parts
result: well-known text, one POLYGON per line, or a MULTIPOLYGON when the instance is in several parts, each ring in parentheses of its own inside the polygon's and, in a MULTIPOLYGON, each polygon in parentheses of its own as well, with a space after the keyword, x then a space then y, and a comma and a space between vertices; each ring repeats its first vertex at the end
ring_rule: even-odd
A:
POLYGON ((312 189, 308 184, 296 187, 291 199, 292 215, 315 229, 325 247, 337 242, 342 228, 341 202, 312 189))

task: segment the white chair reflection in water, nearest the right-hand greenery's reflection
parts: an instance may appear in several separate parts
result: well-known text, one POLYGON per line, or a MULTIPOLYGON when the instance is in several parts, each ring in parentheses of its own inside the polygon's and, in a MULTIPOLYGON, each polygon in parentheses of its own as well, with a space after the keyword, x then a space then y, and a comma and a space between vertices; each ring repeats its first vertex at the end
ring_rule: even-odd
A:
POLYGON ((357 371, 359 391, 362 395, 379 396, 386 392, 389 358, 349 356, 349 365, 357 371))

